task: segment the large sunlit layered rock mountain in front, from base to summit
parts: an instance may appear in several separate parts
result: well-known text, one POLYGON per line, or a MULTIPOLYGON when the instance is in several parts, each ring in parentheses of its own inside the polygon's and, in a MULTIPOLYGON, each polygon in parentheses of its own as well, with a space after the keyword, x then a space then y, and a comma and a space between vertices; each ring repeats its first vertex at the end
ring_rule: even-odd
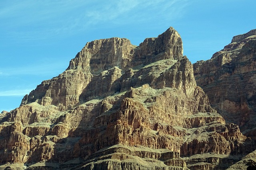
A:
POLYGON ((87 43, 0 117, 0 168, 226 169, 254 150, 210 106, 172 27, 87 43), (12 163, 12 164, 10 164, 12 163), (10 166, 10 167, 8 167, 10 166))

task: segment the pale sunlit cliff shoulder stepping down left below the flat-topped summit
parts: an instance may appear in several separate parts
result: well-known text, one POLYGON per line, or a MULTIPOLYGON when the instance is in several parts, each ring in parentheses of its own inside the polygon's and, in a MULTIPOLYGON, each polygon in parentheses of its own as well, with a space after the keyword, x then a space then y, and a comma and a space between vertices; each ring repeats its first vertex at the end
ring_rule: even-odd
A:
POLYGON ((79 96, 91 80, 90 72, 66 70, 57 77, 43 81, 25 96, 21 106, 32 102, 41 105, 55 105, 59 110, 70 109, 79 103, 79 96))

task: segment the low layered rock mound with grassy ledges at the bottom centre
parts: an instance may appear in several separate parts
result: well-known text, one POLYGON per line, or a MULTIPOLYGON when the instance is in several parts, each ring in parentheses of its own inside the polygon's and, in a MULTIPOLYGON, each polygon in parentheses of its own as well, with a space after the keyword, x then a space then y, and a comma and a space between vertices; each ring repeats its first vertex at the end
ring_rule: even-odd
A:
POLYGON ((145 169, 186 170, 186 162, 176 152, 166 149, 152 150, 144 147, 114 145, 96 152, 96 159, 80 165, 81 169, 145 169))

